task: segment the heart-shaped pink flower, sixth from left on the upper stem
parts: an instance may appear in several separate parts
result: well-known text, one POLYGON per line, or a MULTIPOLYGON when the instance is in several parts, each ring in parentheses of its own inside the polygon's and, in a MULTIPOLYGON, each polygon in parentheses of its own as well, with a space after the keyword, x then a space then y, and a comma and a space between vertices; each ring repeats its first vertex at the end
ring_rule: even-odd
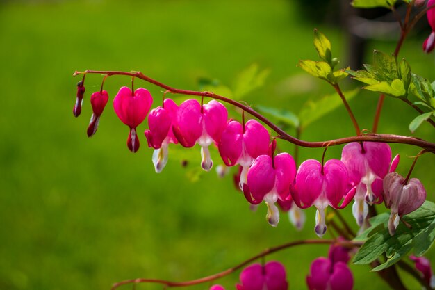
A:
POLYGON ((247 182, 247 171, 254 159, 267 154, 269 150, 269 131, 257 120, 248 120, 245 125, 231 120, 222 132, 218 145, 220 156, 227 166, 242 166, 240 189, 247 182))

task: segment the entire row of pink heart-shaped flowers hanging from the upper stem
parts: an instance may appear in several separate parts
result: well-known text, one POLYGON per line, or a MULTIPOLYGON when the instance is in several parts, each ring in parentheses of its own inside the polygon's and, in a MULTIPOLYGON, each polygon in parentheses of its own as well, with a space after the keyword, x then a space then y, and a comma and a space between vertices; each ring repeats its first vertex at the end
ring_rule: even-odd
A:
MULTIPOLYGON (((81 112, 85 87, 79 82, 74 115, 81 112)), ((108 93, 101 88, 90 97, 92 117, 88 136, 97 131, 101 114, 108 102, 108 93)), ((162 106, 152 109, 153 99, 145 88, 120 88, 113 99, 118 118, 129 127, 127 147, 137 152, 140 143, 137 127, 148 117, 144 131, 148 146, 154 148, 152 161, 156 172, 161 172, 168 159, 170 143, 183 147, 201 147, 202 169, 213 167, 209 147, 214 145, 226 168, 240 166, 238 187, 246 200, 256 206, 265 202, 266 219, 276 227, 279 209, 289 211, 290 221, 300 229, 304 214, 300 209, 314 206, 315 233, 323 236, 327 230, 326 209, 343 209, 354 199, 352 208, 356 223, 363 225, 368 205, 385 202, 391 209, 391 235, 400 218, 416 210, 425 201, 426 192, 418 179, 408 180, 394 172, 399 156, 392 160, 387 143, 348 143, 341 159, 322 162, 309 159, 299 168, 293 156, 286 152, 275 154, 277 141, 270 140, 268 129, 256 120, 238 122, 228 119, 227 108, 211 100, 199 104, 188 99, 179 106, 169 98, 162 106)))

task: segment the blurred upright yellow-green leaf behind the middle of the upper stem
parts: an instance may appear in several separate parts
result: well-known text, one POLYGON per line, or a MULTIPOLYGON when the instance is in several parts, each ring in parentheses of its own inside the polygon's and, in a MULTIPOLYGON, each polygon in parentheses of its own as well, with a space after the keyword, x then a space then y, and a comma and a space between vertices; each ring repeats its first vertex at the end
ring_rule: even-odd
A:
POLYGON ((270 70, 259 70, 256 63, 247 67, 236 78, 233 86, 233 99, 241 99, 249 94, 249 92, 263 86, 269 74, 270 70))

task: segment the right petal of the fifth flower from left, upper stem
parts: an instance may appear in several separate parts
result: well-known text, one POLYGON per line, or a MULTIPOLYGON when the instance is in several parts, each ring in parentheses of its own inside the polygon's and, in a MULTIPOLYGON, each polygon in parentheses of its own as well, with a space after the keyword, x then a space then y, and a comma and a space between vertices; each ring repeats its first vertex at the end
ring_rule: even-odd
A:
POLYGON ((208 104, 204 104, 202 108, 206 132, 217 143, 227 127, 227 108, 215 99, 208 102, 208 104))

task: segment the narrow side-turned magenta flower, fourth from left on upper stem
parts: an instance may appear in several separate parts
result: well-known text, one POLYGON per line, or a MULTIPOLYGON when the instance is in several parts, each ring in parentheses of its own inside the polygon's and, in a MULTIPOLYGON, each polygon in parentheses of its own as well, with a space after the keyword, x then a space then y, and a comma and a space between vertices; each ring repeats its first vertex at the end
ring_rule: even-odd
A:
POLYGON ((147 137, 148 147, 154 148, 152 161, 157 173, 166 166, 168 145, 178 143, 172 132, 177 110, 178 106, 172 99, 165 99, 163 107, 158 106, 149 112, 149 130, 145 130, 144 134, 147 137))

